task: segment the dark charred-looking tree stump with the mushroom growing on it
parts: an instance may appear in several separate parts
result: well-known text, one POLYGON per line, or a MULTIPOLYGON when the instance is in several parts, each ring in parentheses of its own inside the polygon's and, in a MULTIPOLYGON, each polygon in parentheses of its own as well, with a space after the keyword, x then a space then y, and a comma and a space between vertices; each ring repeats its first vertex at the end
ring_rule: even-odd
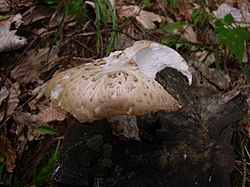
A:
POLYGON ((199 71, 193 73, 191 86, 171 68, 161 71, 157 81, 183 107, 138 117, 140 141, 114 137, 106 120, 71 122, 53 173, 54 186, 230 186, 230 140, 246 114, 245 97, 237 90, 222 90, 199 71), (93 137, 99 137, 99 144, 92 142, 99 150, 90 146, 93 137), (111 155, 104 144, 112 146, 111 155))

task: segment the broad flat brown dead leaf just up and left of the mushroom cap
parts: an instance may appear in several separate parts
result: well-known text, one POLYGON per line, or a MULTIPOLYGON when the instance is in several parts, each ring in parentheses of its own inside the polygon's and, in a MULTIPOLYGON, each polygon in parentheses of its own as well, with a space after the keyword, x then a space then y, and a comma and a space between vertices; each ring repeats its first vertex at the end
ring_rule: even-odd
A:
POLYGON ((20 83, 35 82, 39 79, 40 74, 48 71, 57 56, 57 48, 54 48, 49 53, 49 47, 30 50, 27 57, 21 60, 11 71, 11 76, 20 83))

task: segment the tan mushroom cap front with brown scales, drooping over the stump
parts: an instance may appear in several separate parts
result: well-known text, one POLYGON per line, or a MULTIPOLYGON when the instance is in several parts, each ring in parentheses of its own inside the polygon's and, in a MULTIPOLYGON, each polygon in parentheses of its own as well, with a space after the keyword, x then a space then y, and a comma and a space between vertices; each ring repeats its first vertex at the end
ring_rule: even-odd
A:
POLYGON ((48 81, 45 94, 81 122, 180 108, 158 82, 138 70, 133 60, 107 64, 100 59, 68 69, 48 81))

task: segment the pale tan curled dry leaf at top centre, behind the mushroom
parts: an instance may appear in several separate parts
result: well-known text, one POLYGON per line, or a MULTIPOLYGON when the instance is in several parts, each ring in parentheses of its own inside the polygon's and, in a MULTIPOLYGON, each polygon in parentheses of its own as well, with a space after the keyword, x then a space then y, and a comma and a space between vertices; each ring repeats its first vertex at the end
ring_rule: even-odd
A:
POLYGON ((142 24, 145 29, 154 29, 156 25, 154 22, 161 22, 162 16, 153 12, 142 10, 139 6, 119 6, 117 8, 119 17, 135 17, 136 20, 142 24))

